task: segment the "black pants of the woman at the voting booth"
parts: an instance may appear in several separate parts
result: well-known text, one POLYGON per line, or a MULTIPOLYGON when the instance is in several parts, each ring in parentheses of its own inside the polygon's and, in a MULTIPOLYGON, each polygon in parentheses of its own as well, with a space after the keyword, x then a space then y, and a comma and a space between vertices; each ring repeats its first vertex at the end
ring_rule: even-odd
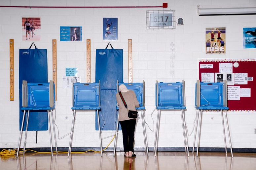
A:
POLYGON ((122 132, 123 132, 124 151, 133 152, 136 119, 124 120, 124 121, 120 121, 119 123, 121 125, 122 132))

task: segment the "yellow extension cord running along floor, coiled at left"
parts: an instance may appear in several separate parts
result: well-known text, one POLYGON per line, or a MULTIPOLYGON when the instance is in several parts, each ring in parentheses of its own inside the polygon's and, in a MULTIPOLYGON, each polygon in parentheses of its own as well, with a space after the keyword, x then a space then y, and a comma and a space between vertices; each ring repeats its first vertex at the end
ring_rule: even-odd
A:
MULTIPOLYGON (((114 140, 115 136, 116 136, 116 135, 114 135, 113 139, 109 142, 108 146, 109 146, 109 145, 111 144, 111 142, 114 140)), ((102 151, 106 150, 106 149, 108 148, 108 146, 106 146, 106 148, 103 149, 102 151)), ((26 151, 32 151, 32 152, 36 152, 36 153, 40 153, 40 154, 51 154, 51 153, 52 153, 52 152, 37 152, 37 151, 30 150, 30 149, 25 150, 25 153, 26 153, 26 151)), ((85 152, 71 152, 71 153, 72 153, 72 154, 81 154, 81 153, 86 153, 86 152, 89 152, 89 151, 93 151, 93 152, 97 152, 97 153, 101 152, 101 151, 88 150, 88 151, 85 151, 85 152)), ((13 156, 13 155, 16 155, 17 152, 23 153, 24 151, 23 151, 23 149, 19 149, 19 151, 18 151, 17 149, 3 149, 3 150, 0 152, 0 156, 13 156)), ((53 153, 56 153, 56 151, 53 152, 53 153)), ((58 154, 59 154, 59 153, 68 153, 68 152, 61 152, 61 151, 58 151, 58 154)))

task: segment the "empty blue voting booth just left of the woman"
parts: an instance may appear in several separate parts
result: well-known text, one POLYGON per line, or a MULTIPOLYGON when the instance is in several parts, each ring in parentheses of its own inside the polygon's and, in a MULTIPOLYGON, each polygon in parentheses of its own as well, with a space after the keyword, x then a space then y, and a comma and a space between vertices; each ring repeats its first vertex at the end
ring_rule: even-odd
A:
MULTIPOLYGON (((74 83, 73 84, 73 120, 71 127, 71 135, 69 140, 69 148, 68 148, 68 157, 71 152, 75 119, 76 119, 76 111, 77 110, 96 110, 97 118, 99 121, 99 110, 100 108, 100 82, 98 83, 74 83)), ((100 131, 100 123, 98 123, 99 129, 99 140, 100 140, 100 151, 102 156, 102 140, 101 140, 101 131, 100 131)))

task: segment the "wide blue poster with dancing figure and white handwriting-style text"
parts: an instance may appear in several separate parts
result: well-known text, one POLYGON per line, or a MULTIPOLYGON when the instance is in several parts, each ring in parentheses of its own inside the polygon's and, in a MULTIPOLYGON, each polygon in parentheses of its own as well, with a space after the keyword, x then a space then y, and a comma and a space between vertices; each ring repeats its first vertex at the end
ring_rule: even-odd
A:
POLYGON ((60 41, 82 41, 82 27, 60 27, 60 41))

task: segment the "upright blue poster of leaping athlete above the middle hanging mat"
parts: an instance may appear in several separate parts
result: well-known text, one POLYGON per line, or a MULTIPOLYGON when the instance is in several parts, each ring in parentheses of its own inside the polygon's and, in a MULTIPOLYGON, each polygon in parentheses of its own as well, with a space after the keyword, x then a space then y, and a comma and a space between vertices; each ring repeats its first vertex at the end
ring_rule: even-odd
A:
POLYGON ((103 18, 103 40, 117 40, 117 18, 103 18))

